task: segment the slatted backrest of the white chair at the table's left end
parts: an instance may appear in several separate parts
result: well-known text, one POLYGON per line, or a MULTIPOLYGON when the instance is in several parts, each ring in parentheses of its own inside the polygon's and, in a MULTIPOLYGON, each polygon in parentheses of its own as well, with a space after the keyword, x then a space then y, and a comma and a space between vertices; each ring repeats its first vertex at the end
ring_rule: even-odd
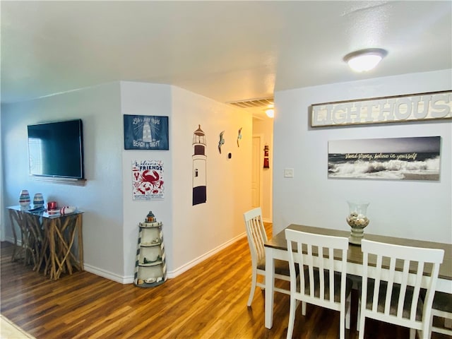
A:
POLYGON ((249 249, 251 251, 251 262, 256 267, 259 261, 265 259, 266 252, 263 244, 268 239, 266 229, 263 227, 261 208, 253 208, 245 212, 243 217, 246 225, 249 249))

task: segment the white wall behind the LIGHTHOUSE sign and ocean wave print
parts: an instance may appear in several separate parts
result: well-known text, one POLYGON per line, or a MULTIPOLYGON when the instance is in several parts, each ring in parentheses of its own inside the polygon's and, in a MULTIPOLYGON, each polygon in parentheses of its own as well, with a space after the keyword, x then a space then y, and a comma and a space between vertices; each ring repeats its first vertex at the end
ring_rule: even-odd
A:
POLYGON ((275 93, 273 232, 290 223, 350 230, 346 201, 370 201, 364 232, 452 243, 452 124, 421 121, 326 129, 309 127, 308 107, 321 102, 451 90, 451 70, 335 83, 275 93), (439 182, 328 179, 328 141, 441 136, 439 182), (295 177, 283 177, 285 167, 295 177))

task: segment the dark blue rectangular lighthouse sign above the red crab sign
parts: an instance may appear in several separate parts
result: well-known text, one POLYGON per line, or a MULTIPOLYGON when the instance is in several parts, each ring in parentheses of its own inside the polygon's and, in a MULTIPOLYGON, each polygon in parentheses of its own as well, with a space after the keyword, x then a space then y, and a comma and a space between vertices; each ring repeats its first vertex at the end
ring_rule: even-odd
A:
POLYGON ((124 114, 124 150, 169 150, 168 117, 124 114))

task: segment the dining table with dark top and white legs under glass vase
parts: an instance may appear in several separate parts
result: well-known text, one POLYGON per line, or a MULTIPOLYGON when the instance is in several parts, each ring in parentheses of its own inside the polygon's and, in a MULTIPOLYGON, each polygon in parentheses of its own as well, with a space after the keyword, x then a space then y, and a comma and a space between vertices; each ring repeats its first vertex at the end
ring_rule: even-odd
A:
MULTIPOLYGON (((287 228, 310 232, 316 234, 333 235, 336 237, 349 237, 350 232, 344 230, 332 230, 322 227, 312 227, 304 225, 289 225, 287 228)), ((385 237, 375 234, 364 234, 364 239, 376 242, 386 242, 389 244, 399 244, 403 246, 427 247, 434 249, 444 249, 444 260, 439 268, 436 290, 452 294, 452 244, 443 244, 439 242, 425 242, 415 239, 404 239, 396 237, 385 237)), ((275 237, 269 239, 265 244, 266 251, 266 293, 265 293, 265 326, 273 326, 273 295, 275 284, 275 266, 274 259, 288 261, 287 241, 285 239, 285 230, 279 232, 275 237)), ((347 251, 347 274, 362 275, 362 251, 361 246, 349 244, 347 251)))

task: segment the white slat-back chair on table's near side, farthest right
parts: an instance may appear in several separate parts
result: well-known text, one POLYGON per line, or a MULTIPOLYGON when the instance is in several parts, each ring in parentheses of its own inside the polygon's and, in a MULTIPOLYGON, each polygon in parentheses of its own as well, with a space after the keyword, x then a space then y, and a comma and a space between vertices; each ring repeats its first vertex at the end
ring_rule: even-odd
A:
POLYGON ((420 338, 429 338, 432 302, 444 250, 366 239, 362 240, 361 249, 359 339, 364 338, 366 318, 408 327, 410 339, 415 338, 416 331, 420 331, 420 338))

